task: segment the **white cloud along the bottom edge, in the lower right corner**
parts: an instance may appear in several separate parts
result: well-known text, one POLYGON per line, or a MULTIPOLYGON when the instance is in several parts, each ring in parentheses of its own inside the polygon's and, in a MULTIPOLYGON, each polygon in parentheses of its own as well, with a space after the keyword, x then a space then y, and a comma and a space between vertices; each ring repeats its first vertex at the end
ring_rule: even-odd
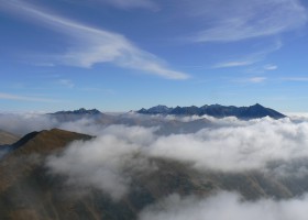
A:
POLYGON ((172 195, 156 206, 148 207, 140 220, 306 220, 308 196, 290 200, 243 201, 234 193, 219 193, 207 199, 182 198, 172 195))

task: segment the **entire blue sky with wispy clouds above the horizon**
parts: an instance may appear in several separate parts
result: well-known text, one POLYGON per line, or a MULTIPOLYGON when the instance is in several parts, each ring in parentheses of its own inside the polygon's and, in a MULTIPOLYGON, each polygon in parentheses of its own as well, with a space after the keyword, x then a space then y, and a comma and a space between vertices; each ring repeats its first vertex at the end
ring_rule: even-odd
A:
POLYGON ((0 0, 1 111, 308 111, 304 0, 0 0))

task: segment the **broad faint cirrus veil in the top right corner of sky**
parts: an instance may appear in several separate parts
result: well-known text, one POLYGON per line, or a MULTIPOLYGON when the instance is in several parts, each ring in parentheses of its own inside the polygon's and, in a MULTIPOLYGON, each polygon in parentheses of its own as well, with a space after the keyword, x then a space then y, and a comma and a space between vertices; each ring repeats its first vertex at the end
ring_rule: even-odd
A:
POLYGON ((191 36, 193 42, 270 36, 307 23, 307 11, 298 0, 199 0, 191 8, 193 15, 205 20, 204 30, 191 36))

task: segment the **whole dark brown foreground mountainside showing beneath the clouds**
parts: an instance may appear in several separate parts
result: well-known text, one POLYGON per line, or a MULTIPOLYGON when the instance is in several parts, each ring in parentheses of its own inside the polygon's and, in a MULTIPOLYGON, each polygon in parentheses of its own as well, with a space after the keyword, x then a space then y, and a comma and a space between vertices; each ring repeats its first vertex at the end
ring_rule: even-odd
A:
MULTIPOLYGON (((189 163, 175 160, 156 156, 145 158, 139 152, 129 155, 130 161, 135 163, 130 162, 120 168, 121 174, 129 179, 129 190, 120 196, 117 196, 117 191, 114 197, 112 194, 110 196, 108 190, 86 183, 77 184, 85 182, 82 177, 76 178, 75 183, 68 178, 70 174, 65 173, 65 166, 61 166, 63 161, 56 161, 55 164, 63 168, 63 173, 51 170, 47 163, 51 156, 66 155, 63 152, 72 142, 80 144, 92 140, 89 135, 53 129, 31 133, 13 144, 13 151, 0 161, 0 219, 138 219, 145 207, 174 194, 207 198, 217 191, 228 190, 240 193, 245 200, 287 199, 302 195, 308 188, 307 179, 302 177, 276 178, 258 170, 200 170, 189 163), (145 166, 147 168, 143 168, 145 166)), ((110 143, 112 138, 108 136, 108 140, 110 143)), ((92 150, 86 147, 87 145, 81 147, 82 152, 92 150)), ((77 151, 70 150, 73 153, 77 151)), ((92 153, 92 160, 96 160, 95 152, 88 153, 92 153)), ((72 165, 73 173, 74 167, 80 165, 87 168, 82 161, 72 161, 68 164, 72 165)), ((98 169, 106 170, 103 166, 107 165, 112 163, 101 162, 98 169)), ((105 173, 101 175, 105 177, 105 173)), ((119 184, 117 180, 111 184, 119 184)))

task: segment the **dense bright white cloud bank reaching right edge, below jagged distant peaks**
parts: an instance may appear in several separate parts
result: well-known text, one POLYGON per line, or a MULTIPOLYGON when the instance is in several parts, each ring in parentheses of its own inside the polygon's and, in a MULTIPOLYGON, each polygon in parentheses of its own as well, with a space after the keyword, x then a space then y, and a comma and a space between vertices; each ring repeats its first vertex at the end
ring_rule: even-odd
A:
POLYGON ((190 162, 198 168, 264 169, 272 161, 308 157, 308 123, 265 118, 238 127, 161 136, 150 146, 148 153, 190 162))

